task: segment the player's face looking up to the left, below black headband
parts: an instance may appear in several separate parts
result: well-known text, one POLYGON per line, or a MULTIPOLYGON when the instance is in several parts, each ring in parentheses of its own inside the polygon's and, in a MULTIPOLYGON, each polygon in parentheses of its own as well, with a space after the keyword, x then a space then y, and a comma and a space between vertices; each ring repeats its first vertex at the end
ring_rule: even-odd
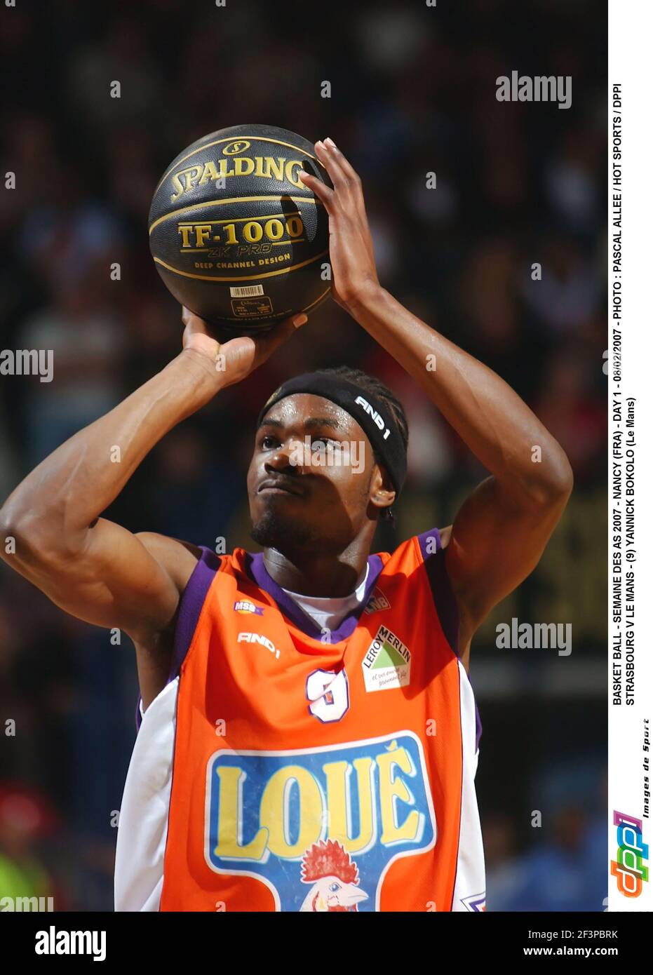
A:
POLYGON ((256 431, 248 472, 252 538, 282 552, 341 552, 369 522, 380 477, 349 413, 321 396, 288 396, 256 431))

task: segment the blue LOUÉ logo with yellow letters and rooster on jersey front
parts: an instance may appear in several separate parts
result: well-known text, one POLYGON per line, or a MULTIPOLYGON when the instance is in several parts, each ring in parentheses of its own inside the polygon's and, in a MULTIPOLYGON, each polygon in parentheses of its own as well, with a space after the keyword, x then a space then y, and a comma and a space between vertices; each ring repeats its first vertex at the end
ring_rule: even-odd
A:
POLYGON ((221 750, 207 791, 208 865, 261 880, 277 911, 378 911, 393 860, 436 841, 411 731, 324 749, 221 750))

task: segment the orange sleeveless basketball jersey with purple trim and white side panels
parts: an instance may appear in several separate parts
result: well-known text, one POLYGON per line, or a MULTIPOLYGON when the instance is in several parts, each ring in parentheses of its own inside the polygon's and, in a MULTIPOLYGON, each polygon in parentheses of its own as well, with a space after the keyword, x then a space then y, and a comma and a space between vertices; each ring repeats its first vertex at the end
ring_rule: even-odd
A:
MULTIPOLYGON (((484 910, 478 715, 438 532, 368 565, 360 609, 324 633, 260 555, 205 550, 180 605, 176 689, 160 695, 167 821, 141 838, 158 852, 135 876, 152 820, 136 822, 151 787, 134 749, 119 910, 484 910), (130 903, 148 870, 156 890, 130 903)), ((138 735, 155 742, 156 704, 138 735)))

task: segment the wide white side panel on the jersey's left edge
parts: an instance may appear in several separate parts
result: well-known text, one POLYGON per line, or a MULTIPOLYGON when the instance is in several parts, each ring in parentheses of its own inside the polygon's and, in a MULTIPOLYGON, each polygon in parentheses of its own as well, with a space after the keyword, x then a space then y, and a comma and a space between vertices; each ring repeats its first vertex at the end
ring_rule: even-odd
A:
POLYGON ((136 735, 120 807, 116 911, 158 911, 161 904, 178 687, 177 678, 155 697, 136 735))

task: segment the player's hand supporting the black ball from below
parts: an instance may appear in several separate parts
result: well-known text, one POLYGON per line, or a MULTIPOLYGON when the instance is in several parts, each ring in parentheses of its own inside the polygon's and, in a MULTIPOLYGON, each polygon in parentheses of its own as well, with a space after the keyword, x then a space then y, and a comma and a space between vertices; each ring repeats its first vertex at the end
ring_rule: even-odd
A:
POLYGON ((188 308, 182 308, 183 348, 192 349, 211 363, 220 378, 220 386, 233 386, 257 369, 272 353, 288 341, 308 321, 303 313, 287 318, 264 335, 242 335, 220 342, 211 338, 207 323, 188 308))

